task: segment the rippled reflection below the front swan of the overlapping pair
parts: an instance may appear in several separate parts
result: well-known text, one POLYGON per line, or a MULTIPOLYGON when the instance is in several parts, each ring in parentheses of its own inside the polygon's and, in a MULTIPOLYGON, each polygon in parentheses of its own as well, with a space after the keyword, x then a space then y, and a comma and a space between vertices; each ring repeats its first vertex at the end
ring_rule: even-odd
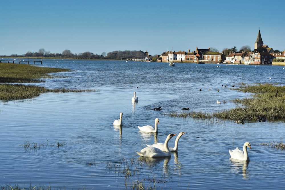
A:
POLYGON ((164 157, 145 157, 140 156, 138 161, 145 163, 148 168, 155 167, 157 164, 160 164, 163 160, 163 172, 164 174, 168 174, 168 162, 171 159, 171 156, 164 156, 164 157))

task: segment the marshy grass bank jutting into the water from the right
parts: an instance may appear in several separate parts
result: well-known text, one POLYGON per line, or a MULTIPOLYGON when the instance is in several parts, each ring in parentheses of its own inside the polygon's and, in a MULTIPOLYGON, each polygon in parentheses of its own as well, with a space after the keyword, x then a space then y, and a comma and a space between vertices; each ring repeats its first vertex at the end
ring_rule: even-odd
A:
POLYGON ((194 119, 229 119, 255 121, 259 119, 279 120, 285 119, 285 87, 272 84, 245 85, 232 88, 247 93, 253 93, 250 98, 231 100, 237 106, 213 113, 188 112, 169 113, 171 117, 191 117, 194 119))

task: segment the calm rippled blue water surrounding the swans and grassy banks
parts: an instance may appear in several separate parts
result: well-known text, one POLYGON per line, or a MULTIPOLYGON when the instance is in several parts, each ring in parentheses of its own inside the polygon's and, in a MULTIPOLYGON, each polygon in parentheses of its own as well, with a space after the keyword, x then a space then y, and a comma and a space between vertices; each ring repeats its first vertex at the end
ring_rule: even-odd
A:
MULTIPOLYGON (((229 100, 249 94, 229 89, 232 84, 284 85, 281 66, 170 67, 168 63, 91 60, 45 60, 36 66, 72 70, 55 73, 64 77, 36 85, 96 91, 46 93, 35 99, 1 102, 1 185, 132 189, 138 180, 146 186, 155 183, 156 189, 284 189, 284 152, 260 145, 282 142, 284 122, 242 125, 231 120, 210 123, 164 116, 181 112, 182 107, 207 112, 233 108, 229 100), (139 97, 136 104, 131 102, 134 91, 139 97), (222 103, 217 105, 217 100, 222 103), (159 106, 161 111, 153 111, 159 106), (122 128, 113 126, 120 112, 122 128), (157 135, 139 132, 137 126, 154 126, 156 117, 157 135), (181 131, 186 134, 171 157, 145 159, 135 152, 181 131), (252 146, 248 150, 251 161, 231 160, 229 149, 242 148, 246 141, 252 146), (28 143, 40 148, 25 149, 28 143), (126 168, 131 176, 125 175, 126 168)), ((169 142, 172 147, 175 138, 169 142)))

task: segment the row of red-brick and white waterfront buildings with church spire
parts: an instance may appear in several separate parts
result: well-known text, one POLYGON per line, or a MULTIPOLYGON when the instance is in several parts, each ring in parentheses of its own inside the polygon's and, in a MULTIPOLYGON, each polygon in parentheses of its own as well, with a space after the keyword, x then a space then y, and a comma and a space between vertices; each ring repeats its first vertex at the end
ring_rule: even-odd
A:
POLYGON ((267 45, 263 45, 263 41, 258 31, 257 40, 255 41, 255 49, 262 46, 266 48, 267 52, 230 52, 225 55, 224 52, 210 52, 208 49, 198 49, 193 52, 179 51, 172 52, 167 51, 157 56, 157 61, 159 62, 206 62, 206 63, 233 63, 233 64, 272 64, 274 58, 285 59, 285 52, 273 53, 274 50, 269 48, 267 45))

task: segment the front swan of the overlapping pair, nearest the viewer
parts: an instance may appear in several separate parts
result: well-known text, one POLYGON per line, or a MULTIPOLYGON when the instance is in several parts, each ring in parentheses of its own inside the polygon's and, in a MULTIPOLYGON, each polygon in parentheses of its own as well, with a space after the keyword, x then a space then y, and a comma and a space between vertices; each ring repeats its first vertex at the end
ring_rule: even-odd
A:
POLYGON ((176 134, 169 134, 164 142, 164 148, 166 151, 162 151, 159 148, 155 148, 153 146, 147 146, 141 150, 141 152, 137 152, 140 156, 144 157, 164 157, 170 156, 171 152, 168 148, 168 141, 175 136, 176 134))

